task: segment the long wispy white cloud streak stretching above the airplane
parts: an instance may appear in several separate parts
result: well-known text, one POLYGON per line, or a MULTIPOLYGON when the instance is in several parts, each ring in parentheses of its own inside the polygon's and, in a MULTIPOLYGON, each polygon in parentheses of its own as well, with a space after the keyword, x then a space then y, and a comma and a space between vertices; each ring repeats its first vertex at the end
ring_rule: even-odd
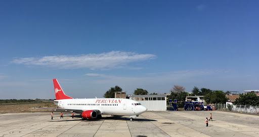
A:
POLYGON ((153 54, 112 51, 109 53, 101 54, 18 58, 14 59, 12 63, 55 67, 60 69, 89 68, 95 70, 121 68, 128 63, 151 60, 154 58, 156 58, 156 56, 153 54))

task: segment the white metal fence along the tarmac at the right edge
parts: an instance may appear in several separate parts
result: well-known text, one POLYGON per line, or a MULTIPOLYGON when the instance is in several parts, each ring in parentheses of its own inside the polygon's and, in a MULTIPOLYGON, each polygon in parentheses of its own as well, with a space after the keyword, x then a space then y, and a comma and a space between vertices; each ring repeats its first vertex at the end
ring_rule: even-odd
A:
POLYGON ((244 113, 255 113, 255 114, 259 113, 259 107, 257 106, 215 104, 215 109, 228 110, 233 112, 244 112, 244 113))

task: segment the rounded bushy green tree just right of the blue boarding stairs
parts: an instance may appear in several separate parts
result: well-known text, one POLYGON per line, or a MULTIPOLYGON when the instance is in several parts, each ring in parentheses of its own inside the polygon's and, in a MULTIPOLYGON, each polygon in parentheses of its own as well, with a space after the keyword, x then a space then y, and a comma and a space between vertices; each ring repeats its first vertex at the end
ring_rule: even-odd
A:
POLYGON ((228 98, 225 96, 225 93, 222 90, 213 90, 204 96, 204 100, 207 104, 210 103, 221 103, 225 104, 228 101, 228 98))

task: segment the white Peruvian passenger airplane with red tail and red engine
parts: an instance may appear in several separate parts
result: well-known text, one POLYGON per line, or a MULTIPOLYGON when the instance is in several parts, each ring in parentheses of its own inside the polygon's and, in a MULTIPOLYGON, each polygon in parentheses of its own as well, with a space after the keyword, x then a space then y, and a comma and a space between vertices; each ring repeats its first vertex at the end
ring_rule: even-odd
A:
POLYGON ((54 104, 60 108, 51 109, 68 110, 75 113, 81 113, 82 120, 90 118, 101 118, 102 115, 119 115, 130 116, 130 121, 133 121, 133 117, 138 117, 140 114, 147 111, 147 108, 141 105, 139 102, 130 99, 73 99, 64 94, 57 79, 53 79, 53 84, 56 96, 54 104))

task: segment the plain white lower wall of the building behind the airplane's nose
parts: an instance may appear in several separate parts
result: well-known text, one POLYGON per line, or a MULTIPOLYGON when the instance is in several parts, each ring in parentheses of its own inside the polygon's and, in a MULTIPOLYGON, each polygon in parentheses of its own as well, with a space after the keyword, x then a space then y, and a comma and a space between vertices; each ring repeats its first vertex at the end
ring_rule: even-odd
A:
POLYGON ((148 110, 166 110, 166 100, 162 101, 138 101, 148 110))

